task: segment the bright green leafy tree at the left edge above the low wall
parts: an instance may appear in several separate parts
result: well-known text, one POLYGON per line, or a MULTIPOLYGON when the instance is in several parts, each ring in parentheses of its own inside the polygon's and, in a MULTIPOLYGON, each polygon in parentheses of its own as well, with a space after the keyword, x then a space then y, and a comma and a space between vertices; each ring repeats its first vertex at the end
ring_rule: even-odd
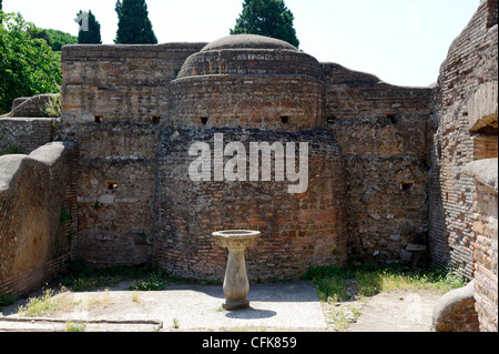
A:
POLYGON ((9 112, 12 100, 57 93, 61 84, 61 57, 40 38, 40 29, 20 13, 0 12, 0 111, 9 112))

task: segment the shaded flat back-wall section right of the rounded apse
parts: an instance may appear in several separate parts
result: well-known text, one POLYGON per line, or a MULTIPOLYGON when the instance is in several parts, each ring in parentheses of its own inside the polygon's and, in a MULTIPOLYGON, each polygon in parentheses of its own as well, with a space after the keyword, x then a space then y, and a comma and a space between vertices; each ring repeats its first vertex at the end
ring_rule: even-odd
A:
POLYGON ((349 247, 371 262, 408 261, 426 244, 431 89, 401 88, 324 63, 326 114, 346 161, 349 247))

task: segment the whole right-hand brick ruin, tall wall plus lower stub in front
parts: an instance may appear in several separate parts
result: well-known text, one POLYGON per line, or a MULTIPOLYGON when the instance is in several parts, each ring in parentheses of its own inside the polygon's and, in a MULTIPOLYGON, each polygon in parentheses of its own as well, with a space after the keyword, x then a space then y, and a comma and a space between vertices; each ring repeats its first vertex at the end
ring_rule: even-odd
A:
POLYGON ((497 331, 497 1, 483 1, 449 48, 435 90, 429 252, 476 281, 480 330, 497 331))

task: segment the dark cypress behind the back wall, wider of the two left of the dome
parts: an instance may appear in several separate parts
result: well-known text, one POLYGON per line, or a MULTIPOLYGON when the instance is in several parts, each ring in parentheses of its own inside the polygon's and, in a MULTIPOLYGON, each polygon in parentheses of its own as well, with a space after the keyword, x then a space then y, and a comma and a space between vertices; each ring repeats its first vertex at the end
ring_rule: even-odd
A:
POLYGON ((118 0, 118 32, 120 44, 156 44, 157 39, 149 19, 145 0, 118 0))

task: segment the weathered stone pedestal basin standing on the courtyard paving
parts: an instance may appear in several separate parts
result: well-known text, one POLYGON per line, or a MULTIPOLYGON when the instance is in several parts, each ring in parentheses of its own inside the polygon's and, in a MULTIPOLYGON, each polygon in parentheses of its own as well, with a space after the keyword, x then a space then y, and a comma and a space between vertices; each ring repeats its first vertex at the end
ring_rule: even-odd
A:
POLYGON ((249 306, 246 295, 249 292, 249 282, 246 273, 244 250, 255 243, 259 231, 227 230, 212 233, 220 246, 228 250, 227 266, 224 277, 224 294, 226 302, 223 309, 241 310, 249 306))

